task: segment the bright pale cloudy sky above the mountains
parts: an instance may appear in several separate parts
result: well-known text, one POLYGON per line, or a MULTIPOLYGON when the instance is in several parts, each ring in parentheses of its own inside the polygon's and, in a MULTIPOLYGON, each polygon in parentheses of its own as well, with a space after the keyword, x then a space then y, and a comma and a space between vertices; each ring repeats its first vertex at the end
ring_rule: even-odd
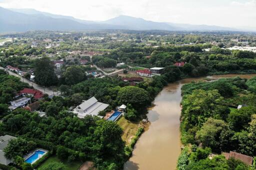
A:
POLYGON ((256 28, 256 0, 0 0, 0 6, 85 20, 129 15, 158 22, 256 28))

